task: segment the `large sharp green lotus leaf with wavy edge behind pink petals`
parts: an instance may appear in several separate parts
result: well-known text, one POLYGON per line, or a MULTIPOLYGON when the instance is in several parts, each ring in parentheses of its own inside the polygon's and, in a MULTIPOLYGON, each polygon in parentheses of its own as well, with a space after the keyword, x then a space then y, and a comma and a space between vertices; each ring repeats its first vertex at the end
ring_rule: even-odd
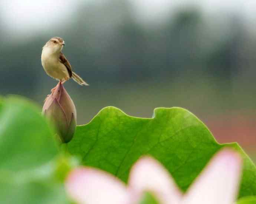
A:
POLYGON ((108 171, 127 182, 129 170, 139 157, 151 155, 170 171, 186 191, 211 157, 223 147, 243 157, 239 197, 256 195, 256 168, 237 143, 219 144, 207 127, 183 108, 157 108, 153 118, 126 115, 106 107, 87 125, 76 128, 68 143, 82 164, 108 171))

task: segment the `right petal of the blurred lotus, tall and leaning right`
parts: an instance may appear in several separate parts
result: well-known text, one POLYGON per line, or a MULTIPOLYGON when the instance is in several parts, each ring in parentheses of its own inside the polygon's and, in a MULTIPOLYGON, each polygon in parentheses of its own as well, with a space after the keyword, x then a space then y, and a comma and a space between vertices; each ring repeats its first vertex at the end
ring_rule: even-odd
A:
POLYGON ((237 197, 242 159, 224 149, 211 159, 184 196, 182 204, 233 204, 237 197))

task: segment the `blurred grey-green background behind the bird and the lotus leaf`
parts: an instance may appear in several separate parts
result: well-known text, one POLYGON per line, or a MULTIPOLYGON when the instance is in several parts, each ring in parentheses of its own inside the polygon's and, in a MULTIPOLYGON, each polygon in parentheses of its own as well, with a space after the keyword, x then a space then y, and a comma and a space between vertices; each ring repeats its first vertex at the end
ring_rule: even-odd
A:
POLYGON ((0 95, 43 105, 57 84, 40 59, 54 36, 90 84, 65 83, 79 124, 105 106, 147 118, 180 106, 256 159, 256 1, 2 0, 0 95))

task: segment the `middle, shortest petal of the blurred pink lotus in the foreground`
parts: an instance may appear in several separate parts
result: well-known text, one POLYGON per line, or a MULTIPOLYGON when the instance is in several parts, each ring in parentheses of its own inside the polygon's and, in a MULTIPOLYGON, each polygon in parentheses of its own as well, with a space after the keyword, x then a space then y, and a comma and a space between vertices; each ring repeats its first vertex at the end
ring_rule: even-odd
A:
POLYGON ((170 176, 170 173, 157 160, 142 157, 131 169, 129 189, 138 200, 145 191, 149 191, 161 203, 177 204, 181 200, 181 192, 170 176))

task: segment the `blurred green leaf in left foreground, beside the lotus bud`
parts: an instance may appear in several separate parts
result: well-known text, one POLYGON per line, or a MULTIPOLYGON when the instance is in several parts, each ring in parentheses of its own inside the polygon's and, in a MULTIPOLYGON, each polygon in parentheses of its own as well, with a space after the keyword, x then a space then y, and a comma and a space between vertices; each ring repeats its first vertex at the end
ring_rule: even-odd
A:
POLYGON ((23 98, 1 103, 0 203, 68 203, 55 177, 56 141, 40 109, 23 98))

